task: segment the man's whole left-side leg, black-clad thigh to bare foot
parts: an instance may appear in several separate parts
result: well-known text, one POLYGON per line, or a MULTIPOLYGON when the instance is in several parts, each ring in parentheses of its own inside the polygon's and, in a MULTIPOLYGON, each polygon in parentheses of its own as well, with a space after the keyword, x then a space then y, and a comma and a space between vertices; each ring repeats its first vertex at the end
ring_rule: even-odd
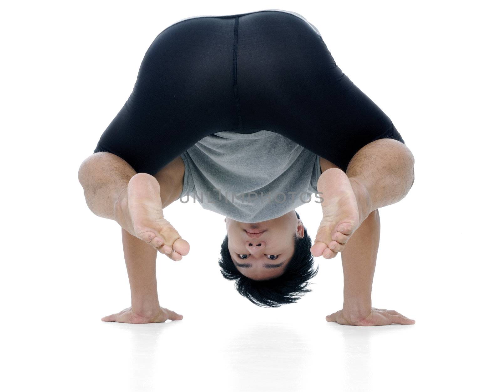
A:
MULTIPOLYGON (((237 124, 232 42, 230 19, 195 18, 158 34, 131 95, 80 167, 91 210, 158 249, 180 236, 163 219, 154 175, 204 136, 237 124)), ((171 245, 179 254, 188 250, 181 240, 162 252, 171 245)))

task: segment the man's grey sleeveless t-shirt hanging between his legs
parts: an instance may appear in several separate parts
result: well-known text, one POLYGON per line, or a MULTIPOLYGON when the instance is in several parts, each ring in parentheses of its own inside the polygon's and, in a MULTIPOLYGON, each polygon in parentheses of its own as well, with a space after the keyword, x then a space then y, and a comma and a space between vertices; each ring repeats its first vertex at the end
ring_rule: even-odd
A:
POLYGON ((279 133, 220 131, 181 153, 182 202, 245 223, 284 215, 320 201, 320 156, 279 133))

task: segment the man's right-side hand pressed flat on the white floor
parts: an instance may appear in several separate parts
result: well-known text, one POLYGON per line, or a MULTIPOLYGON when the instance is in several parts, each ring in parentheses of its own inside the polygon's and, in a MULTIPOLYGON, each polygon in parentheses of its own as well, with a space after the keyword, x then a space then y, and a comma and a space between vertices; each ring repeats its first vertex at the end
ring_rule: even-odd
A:
POLYGON ((414 324, 416 321, 400 314, 395 310, 371 308, 368 315, 353 316, 346 310, 341 309, 335 313, 328 314, 325 319, 331 322, 337 322, 343 325, 358 325, 358 326, 371 326, 371 325, 389 325, 395 324, 414 324))

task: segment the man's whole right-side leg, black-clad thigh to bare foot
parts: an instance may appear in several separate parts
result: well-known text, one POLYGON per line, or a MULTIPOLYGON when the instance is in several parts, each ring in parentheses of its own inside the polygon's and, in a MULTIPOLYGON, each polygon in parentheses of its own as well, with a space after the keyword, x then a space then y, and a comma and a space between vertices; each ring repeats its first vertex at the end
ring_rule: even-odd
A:
POLYGON ((372 210, 405 196, 414 158, 391 119, 338 67, 308 23, 263 13, 243 16, 239 28, 244 126, 283 134, 338 167, 318 179, 324 218, 311 249, 333 257, 372 210))

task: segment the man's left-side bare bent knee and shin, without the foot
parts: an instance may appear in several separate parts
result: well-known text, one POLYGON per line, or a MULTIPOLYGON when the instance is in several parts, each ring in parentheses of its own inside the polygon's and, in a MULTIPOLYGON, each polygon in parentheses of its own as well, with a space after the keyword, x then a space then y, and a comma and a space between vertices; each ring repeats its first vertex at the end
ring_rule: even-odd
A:
POLYGON ((135 174, 125 160, 109 152, 96 152, 86 158, 78 170, 78 179, 90 210, 115 220, 115 201, 135 174))

